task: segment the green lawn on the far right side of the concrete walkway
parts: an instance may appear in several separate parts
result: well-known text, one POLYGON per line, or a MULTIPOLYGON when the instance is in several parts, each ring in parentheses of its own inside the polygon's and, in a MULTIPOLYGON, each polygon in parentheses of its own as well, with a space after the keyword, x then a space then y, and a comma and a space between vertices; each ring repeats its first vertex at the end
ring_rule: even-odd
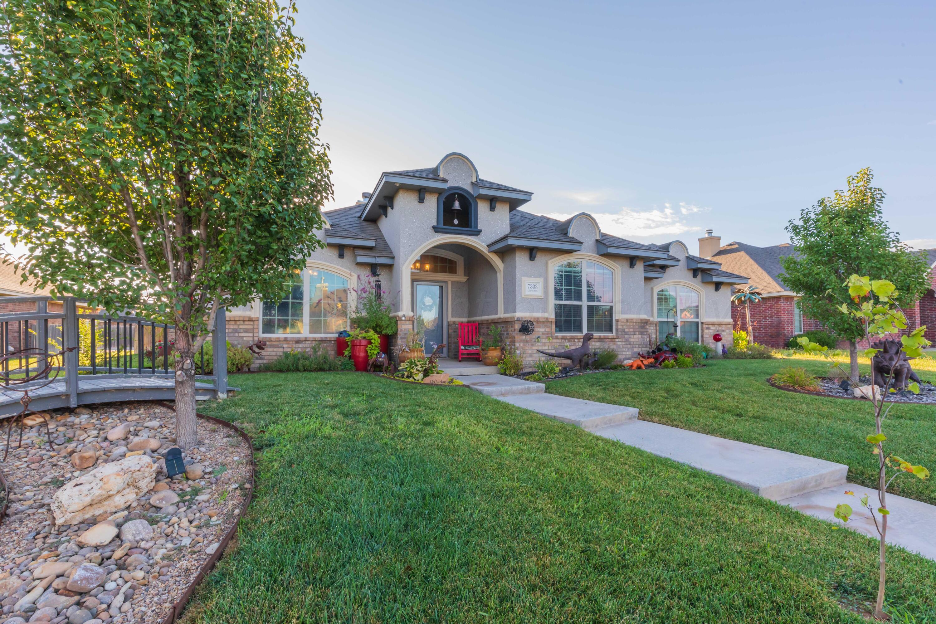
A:
MULTIPOLYGON (((767 378, 786 366, 823 374, 809 358, 709 360, 685 370, 625 370, 549 382, 548 392, 628 405, 640 418, 847 464, 848 478, 877 483, 877 462, 865 437, 874 432, 868 401, 828 399, 774 388, 767 378)), ((924 379, 932 372, 921 370, 924 379)), ((887 449, 936 473, 936 405, 895 405, 885 420, 887 449)), ((908 475, 909 476, 909 475, 908 475)), ((900 478, 891 491, 936 503, 933 480, 900 478)))

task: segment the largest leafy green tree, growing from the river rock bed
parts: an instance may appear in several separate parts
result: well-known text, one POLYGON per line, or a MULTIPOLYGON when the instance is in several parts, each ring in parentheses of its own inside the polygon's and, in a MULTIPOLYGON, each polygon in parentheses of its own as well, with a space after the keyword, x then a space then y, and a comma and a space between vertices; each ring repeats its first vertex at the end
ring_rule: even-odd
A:
POLYGON ((176 442, 222 306, 278 297, 322 243, 321 102, 275 0, 7 0, 0 232, 24 272, 175 324, 176 442))

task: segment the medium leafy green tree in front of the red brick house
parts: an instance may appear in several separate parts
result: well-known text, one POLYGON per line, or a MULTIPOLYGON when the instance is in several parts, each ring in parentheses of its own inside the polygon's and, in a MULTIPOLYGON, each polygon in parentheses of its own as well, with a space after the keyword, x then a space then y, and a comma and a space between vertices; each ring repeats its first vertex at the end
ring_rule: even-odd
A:
POLYGON ((876 275, 894 283, 900 293, 896 303, 909 308, 929 288, 926 261, 887 226, 881 210, 885 193, 871 186, 872 178, 870 168, 861 169, 848 178, 847 191, 836 191, 801 210, 799 223, 786 226, 797 253, 781 258, 783 283, 802 296, 803 314, 848 341, 853 383, 863 329, 855 317, 842 314, 827 293, 841 287, 849 275, 876 275))

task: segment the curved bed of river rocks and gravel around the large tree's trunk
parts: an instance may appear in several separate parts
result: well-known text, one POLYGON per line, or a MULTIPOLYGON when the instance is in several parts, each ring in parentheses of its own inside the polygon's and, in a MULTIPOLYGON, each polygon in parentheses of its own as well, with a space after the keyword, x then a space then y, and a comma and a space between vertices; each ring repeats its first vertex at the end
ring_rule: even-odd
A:
MULTIPOLYGON (((162 622, 243 508, 253 477, 248 444, 198 420, 186 475, 168 479, 175 413, 153 402, 54 410, 49 448, 42 424, 7 461, 0 523, 0 624, 162 622), (127 456, 151 457, 155 486, 121 511, 56 527, 52 497, 66 483, 127 456), (74 456, 74 457, 73 457, 74 456)), ((4 423, 6 425, 6 423, 4 423)), ((6 433, 6 431, 4 431, 6 433)), ((0 457, 6 435, 0 440, 0 457)))

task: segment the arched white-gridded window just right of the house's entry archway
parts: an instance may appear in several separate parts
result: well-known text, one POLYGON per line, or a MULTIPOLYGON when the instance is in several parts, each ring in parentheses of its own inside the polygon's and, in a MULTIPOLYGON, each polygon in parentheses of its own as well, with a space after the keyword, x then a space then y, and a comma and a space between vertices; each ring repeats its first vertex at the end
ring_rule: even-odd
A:
POLYGON ((553 268, 552 285, 557 334, 614 333, 610 268, 589 260, 563 262, 553 268))

